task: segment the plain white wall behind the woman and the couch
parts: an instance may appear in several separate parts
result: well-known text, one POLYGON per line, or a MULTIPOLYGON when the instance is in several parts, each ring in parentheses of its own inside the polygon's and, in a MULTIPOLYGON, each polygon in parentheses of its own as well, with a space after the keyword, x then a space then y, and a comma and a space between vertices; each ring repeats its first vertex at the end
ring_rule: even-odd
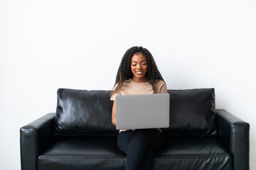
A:
POLYGON ((167 89, 215 88, 250 123, 256 169, 256 2, 0 0, 0 169, 21 169, 19 129, 58 88, 111 90, 124 52, 154 56, 167 89))

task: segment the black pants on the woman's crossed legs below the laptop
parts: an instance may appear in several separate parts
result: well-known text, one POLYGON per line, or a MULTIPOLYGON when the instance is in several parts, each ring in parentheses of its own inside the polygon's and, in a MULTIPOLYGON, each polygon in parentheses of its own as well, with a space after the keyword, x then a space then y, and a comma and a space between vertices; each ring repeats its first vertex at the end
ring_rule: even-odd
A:
POLYGON ((153 169, 154 152, 161 147, 163 136, 157 129, 137 129, 120 132, 119 149, 127 154, 125 170, 153 169))

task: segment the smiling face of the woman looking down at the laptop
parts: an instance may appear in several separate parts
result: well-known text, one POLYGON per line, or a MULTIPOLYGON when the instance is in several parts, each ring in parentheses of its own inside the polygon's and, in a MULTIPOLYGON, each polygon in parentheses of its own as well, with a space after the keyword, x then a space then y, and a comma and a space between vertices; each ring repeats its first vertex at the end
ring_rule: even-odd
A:
POLYGON ((146 71, 147 71, 147 62, 146 57, 140 53, 139 55, 133 55, 131 60, 131 70, 133 80, 137 82, 147 81, 146 71))

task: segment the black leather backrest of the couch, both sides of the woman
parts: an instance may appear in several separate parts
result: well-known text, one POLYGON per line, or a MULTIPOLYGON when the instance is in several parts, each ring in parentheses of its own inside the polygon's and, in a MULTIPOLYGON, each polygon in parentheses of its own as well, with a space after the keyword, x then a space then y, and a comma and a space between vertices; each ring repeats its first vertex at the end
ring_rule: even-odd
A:
MULTIPOLYGON (((58 89, 55 135, 117 135, 111 91, 58 89)), ((168 90, 170 127, 165 135, 216 135, 214 89, 168 90)))

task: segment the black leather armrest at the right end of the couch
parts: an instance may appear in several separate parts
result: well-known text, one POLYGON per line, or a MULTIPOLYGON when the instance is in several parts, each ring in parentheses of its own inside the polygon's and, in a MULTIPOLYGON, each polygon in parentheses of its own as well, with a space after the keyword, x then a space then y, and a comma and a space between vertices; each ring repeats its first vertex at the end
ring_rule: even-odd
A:
POLYGON ((216 109, 218 137, 230 150, 234 170, 249 170, 250 125, 228 111, 216 109))

